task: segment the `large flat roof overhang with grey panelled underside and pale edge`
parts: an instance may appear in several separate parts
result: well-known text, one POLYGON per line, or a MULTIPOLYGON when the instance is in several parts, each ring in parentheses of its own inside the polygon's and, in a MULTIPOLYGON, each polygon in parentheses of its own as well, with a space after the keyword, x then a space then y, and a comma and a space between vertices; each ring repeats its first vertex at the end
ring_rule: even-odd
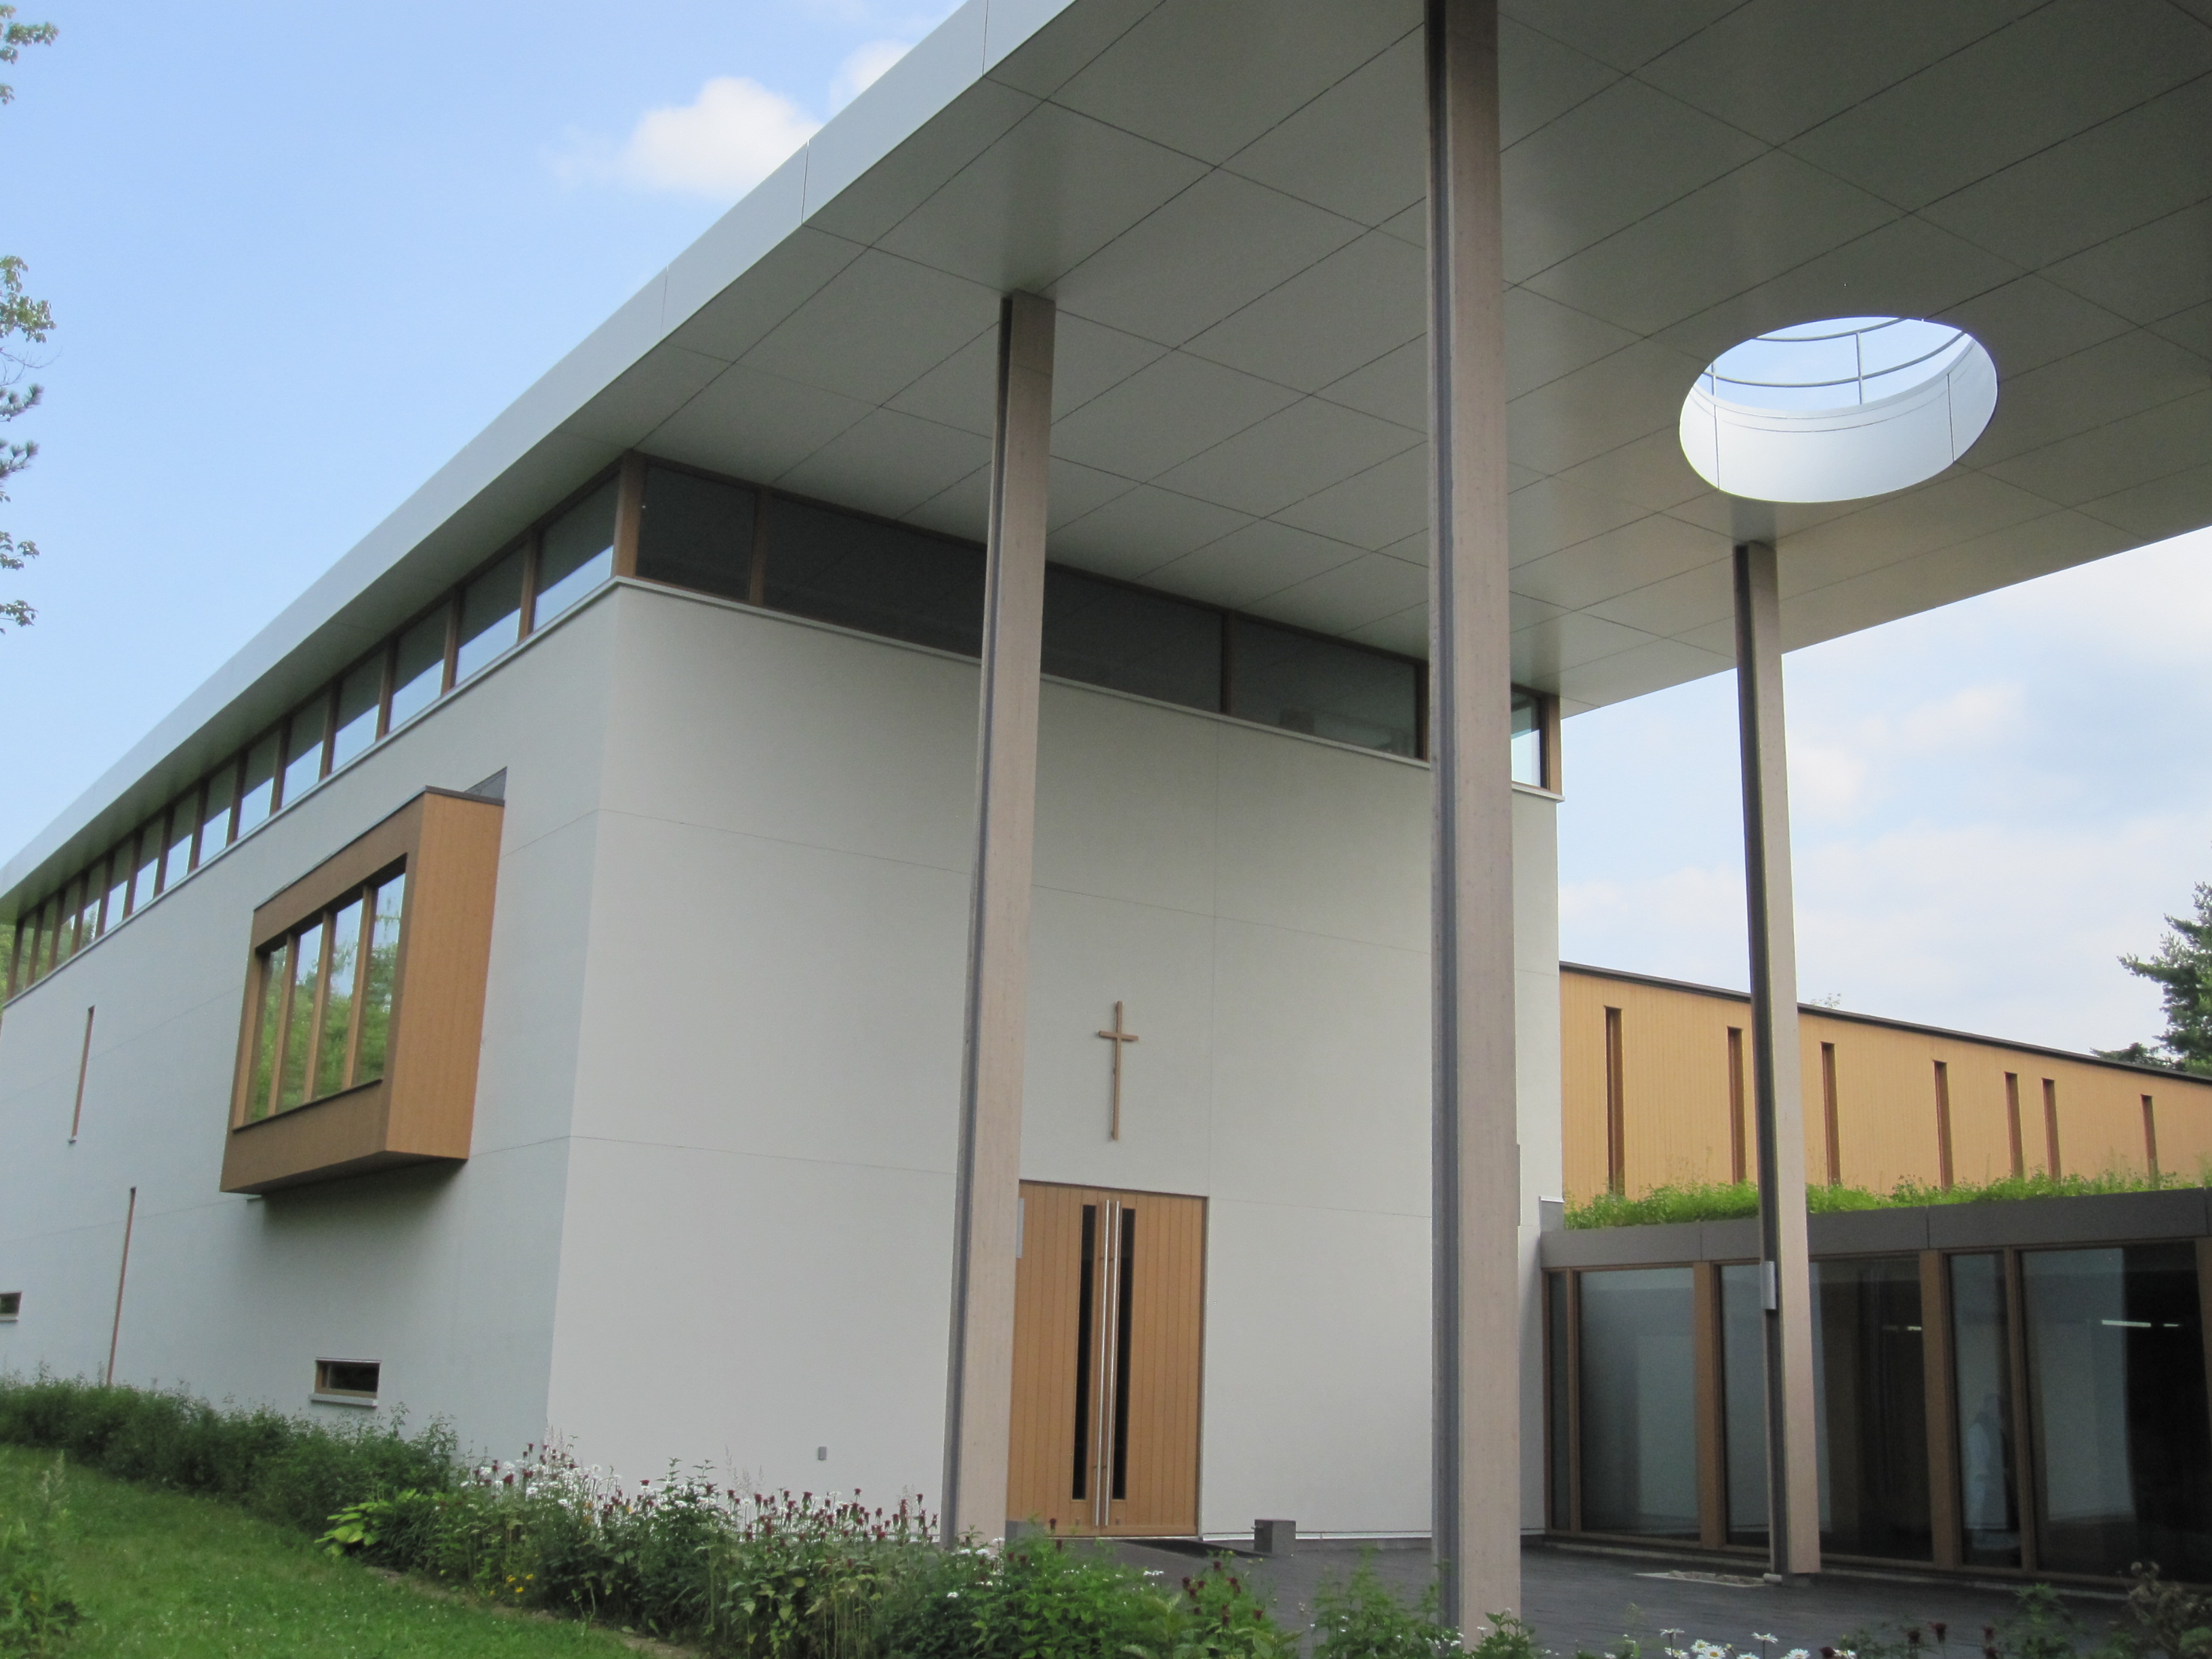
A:
MULTIPOLYGON (((1053 557, 1427 648, 1416 0, 969 0, 0 869, 0 911, 624 449, 982 535, 998 296, 1060 305, 1053 557)), ((1774 509, 1805 646, 2212 522, 2212 0, 1506 0, 1513 653, 1734 661, 1697 372, 1971 330, 1949 471, 1774 509)))

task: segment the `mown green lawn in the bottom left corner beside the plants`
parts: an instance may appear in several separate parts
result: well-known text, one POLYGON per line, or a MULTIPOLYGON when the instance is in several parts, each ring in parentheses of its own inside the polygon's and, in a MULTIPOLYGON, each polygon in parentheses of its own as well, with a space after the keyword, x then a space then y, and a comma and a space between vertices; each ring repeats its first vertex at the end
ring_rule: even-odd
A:
MULTIPOLYGON (((0 1513, 27 1513, 51 1467, 51 1451, 0 1447, 0 1513)), ((64 1504, 86 1613, 69 1659, 633 1659, 606 1630, 431 1599, 210 1498, 71 1469, 64 1504)))

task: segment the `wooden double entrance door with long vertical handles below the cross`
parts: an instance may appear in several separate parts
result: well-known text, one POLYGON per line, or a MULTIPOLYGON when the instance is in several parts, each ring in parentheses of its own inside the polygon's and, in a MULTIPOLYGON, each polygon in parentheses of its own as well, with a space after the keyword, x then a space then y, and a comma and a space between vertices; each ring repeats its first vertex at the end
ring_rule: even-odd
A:
POLYGON ((1206 1199, 1022 1181, 1006 1515, 1199 1531, 1206 1199))

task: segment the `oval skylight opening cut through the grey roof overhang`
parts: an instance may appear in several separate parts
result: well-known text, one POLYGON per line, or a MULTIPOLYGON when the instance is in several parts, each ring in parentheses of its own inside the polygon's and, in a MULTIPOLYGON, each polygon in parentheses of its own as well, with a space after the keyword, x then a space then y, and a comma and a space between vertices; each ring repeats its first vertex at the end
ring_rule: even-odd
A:
POLYGON ((1763 502, 1854 502, 1933 478, 1997 409, 1982 343, 1918 316, 1832 316, 1732 345, 1681 405, 1699 478, 1763 502))

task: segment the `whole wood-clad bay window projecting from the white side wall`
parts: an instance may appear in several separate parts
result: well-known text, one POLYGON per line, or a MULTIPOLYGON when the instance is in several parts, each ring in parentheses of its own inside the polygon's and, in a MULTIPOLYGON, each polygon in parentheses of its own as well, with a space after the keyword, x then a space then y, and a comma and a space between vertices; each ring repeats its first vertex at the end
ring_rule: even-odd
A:
POLYGON ((254 911, 226 1192, 469 1157, 498 858, 425 790, 254 911))

